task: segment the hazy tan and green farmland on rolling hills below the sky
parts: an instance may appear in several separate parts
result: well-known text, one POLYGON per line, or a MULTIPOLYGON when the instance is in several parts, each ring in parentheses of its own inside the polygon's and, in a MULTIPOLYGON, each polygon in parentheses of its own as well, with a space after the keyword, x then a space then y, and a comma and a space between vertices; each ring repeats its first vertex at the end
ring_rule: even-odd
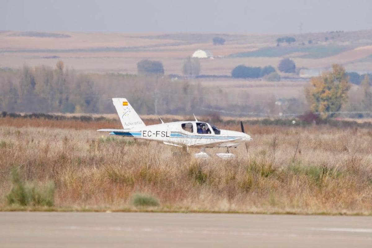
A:
POLYGON ((223 34, 225 45, 213 45, 213 33, 38 33, 0 32, 1 67, 54 66, 58 60, 83 72, 137 73, 141 59, 160 60, 166 74, 182 74, 186 57, 197 49, 211 51, 215 59, 201 60, 201 74, 230 75, 239 64, 278 66, 283 57, 298 68, 370 71, 372 31, 305 33, 294 35, 296 44, 276 46, 279 35, 223 34), (325 38, 327 38, 325 41, 325 38), (312 40, 313 44, 308 44, 312 40), (283 47, 282 47, 283 46, 283 47))

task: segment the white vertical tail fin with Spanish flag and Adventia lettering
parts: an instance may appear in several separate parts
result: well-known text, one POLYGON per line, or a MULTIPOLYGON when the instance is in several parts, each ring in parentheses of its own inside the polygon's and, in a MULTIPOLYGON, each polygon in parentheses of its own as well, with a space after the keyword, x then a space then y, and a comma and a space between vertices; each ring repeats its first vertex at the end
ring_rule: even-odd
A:
POLYGON ((115 106, 116 112, 118 112, 124 129, 135 128, 140 130, 146 126, 128 100, 125 98, 113 98, 112 103, 115 106))

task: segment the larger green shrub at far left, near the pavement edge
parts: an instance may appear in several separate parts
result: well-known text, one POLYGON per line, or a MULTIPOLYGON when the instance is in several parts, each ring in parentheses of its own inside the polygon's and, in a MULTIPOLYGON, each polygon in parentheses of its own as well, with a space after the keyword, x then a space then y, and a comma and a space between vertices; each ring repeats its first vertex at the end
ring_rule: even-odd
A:
POLYGON ((45 184, 22 181, 19 171, 12 170, 12 189, 6 196, 9 205, 48 206, 54 205, 54 183, 45 184))

